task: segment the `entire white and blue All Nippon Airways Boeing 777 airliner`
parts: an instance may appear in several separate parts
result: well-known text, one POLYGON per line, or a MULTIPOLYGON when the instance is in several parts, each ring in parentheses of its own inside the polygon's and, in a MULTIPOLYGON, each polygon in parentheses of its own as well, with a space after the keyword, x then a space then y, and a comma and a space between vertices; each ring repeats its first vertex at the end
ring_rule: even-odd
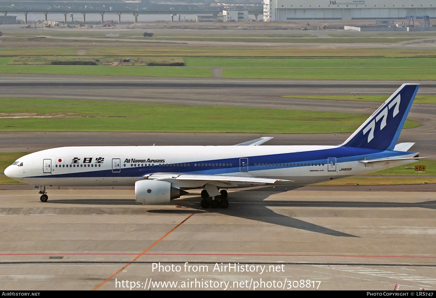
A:
POLYGON ((201 207, 228 207, 226 189, 303 185, 371 173, 412 162, 414 143, 397 144, 419 84, 403 84, 337 146, 83 146, 34 152, 5 169, 6 176, 45 186, 135 186, 139 204, 170 203, 203 189, 201 207))

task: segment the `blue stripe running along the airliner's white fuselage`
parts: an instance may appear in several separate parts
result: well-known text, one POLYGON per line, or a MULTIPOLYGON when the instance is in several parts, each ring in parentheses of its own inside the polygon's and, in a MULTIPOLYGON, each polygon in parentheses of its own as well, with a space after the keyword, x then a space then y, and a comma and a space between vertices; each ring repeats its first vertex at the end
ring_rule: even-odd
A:
MULTIPOLYGON (((407 152, 407 154, 412 154, 413 152, 407 152)), ((257 164, 276 164, 276 163, 307 163, 308 165, 312 163, 324 163, 327 165, 327 159, 329 157, 336 157, 337 163, 345 163, 350 161, 357 161, 363 159, 379 159, 392 156, 402 156, 405 152, 401 151, 391 151, 391 150, 378 150, 378 149, 367 149, 367 148, 354 148, 354 147, 337 147, 332 149, 322 149, 313 151, 303 151, 303 152, 290 152, 290 153, 280 153, 271 155, 261 155, 261 156, 242 156, 241 158, 248 158, 249 170, 253 167, 255 170, 271 169, 271 166, 257 166, 257 164), (256 164, 256 166, 254 166, 256 164)), ((100 170, 100 171, 89 171, 89 172, 76 172, 76 173, 65 173, 65 174, 53 174, 51 176, 33 176, 26 178, 83 178, 83 177, 141 177, 151 173, 193 173, 193 174, 225 174, 225 173, 235 173, 239 172, 239 157, 231 159, 210 159, 201 161, 184 162, 184 164, 189 163, 190 166, 139 166, 139 167, 129 167, 121 168, 121 172, 113 173, 112 169, 100 170), (225 163, 229 166, 194 166, 195 163, 204 164, 218 164, 225 163), (230 166, 232 164, 232 166, 230 166)), ((181 164, 182 165, 182 164, 181 164)), ((276 166, 275 168, 290 168, 294 166, 276 166)))

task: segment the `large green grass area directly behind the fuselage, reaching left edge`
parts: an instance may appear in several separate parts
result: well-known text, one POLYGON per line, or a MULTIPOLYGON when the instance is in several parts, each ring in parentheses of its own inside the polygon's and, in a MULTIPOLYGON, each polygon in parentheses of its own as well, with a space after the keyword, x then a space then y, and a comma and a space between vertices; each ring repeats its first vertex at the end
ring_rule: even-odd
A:
MULTIPOLYGON (((3 118, 0 131, 329 133, 353 132, 367 118, 329 112, 43 99, 0 99, 0 109, 7 115, 52 117, 3 118)), ((405 123, 405 127, 419 125, 405 123)))

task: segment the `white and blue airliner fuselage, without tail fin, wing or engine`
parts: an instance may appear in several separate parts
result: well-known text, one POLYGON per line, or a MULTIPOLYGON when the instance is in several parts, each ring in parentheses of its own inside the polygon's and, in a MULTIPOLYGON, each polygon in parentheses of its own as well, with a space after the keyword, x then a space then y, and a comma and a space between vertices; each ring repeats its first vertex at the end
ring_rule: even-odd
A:
MULTIPOLYGON (((61 147, 23 156, 5 174, 41 186, 133 186, 151 173, 250 176, 291 181, 281 185, 303 185, 410 163, 365 165, 359 160, 414 155, 341 146, 61 147)), ((174 183, 184 189, 202 186, 201 181, 174 183)))

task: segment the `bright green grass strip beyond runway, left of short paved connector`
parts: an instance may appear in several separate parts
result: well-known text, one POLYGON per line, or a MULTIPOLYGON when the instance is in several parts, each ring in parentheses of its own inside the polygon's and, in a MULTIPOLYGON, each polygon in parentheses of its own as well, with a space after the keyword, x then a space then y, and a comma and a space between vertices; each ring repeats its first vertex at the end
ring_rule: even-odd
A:
POLYGON ((190 67, 87 66, 87 65, 14 65, 0 66, 0 73, 11 74, 88 74, 143 77, 210 78, 212 70, 190 67))

